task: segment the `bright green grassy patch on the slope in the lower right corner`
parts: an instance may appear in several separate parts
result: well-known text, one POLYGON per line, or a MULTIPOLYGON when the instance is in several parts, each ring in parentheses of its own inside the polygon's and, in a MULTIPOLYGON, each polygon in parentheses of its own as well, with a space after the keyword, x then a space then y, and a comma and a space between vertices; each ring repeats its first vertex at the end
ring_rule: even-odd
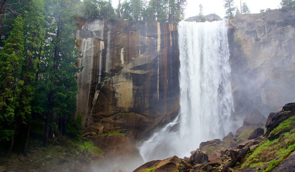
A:
POLYGON ((274 140, 267 138, 252 154, 247 154, 246 160, 241 165, 242 169, 266 167, 265 172, 270 172, 295 150, 295 117, 282 122, 271 133, 280 134, 274 140))

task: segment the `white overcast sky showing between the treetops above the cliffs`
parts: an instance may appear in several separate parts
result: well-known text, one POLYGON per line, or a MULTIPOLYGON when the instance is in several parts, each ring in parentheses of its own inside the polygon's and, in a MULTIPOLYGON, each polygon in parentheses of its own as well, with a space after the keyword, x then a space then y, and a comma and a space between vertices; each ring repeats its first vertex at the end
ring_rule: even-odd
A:
MULTIPOLYGON (((113 6, 117 7, 119 0, 112 0, 113 6)), ((122 2, 123 0, 121 0, 122 2)), ((203 5, 204 15, 215 13, 221 18, 225 16, 225 9, 223 7, 224 0, 186 0, 187 6, 185 9, 185 18, 196 16, 199 14, 199 5, 203 5)), ((234 0, 235 6, 240 9, 240 0, 234 0)), ((277 9, 281 0, 242 0, 246 2, 251 13, 259 13, 261 9, 277 9)))

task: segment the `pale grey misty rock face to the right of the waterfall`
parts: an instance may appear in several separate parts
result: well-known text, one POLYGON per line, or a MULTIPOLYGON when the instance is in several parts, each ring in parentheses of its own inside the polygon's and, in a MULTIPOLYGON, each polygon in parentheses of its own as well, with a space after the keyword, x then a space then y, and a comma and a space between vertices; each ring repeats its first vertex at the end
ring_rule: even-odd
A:
POLYGON ((236 15, 229 21, 230 61, 236 114, 293 102, 295 11, 236 15))

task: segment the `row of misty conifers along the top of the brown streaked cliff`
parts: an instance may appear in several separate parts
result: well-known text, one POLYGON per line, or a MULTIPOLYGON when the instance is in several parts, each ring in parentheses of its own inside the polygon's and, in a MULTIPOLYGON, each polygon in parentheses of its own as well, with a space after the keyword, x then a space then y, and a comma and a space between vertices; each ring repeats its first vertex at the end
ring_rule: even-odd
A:
POLYGON ((110 0, 84 0, 80 15, 89 20, 117 18, 131 22, 176 23, 184 19, 185 6, 186 0, 124 0, 122 3, 119 0, 115 10, 110 0))

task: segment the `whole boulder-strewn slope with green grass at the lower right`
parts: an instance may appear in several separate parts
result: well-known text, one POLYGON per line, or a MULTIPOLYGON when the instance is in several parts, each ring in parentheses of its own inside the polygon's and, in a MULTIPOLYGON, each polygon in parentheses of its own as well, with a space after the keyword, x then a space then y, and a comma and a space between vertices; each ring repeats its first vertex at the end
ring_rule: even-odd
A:
POLYGON ((294 171, 295 103, 270 113, 267 120, 253 111, 236 133, 229 133, 222 141, 202 142, 190 157, 151 161, 134 172, 294 171), (257 127, 265 122, 265 127, 257 127))

